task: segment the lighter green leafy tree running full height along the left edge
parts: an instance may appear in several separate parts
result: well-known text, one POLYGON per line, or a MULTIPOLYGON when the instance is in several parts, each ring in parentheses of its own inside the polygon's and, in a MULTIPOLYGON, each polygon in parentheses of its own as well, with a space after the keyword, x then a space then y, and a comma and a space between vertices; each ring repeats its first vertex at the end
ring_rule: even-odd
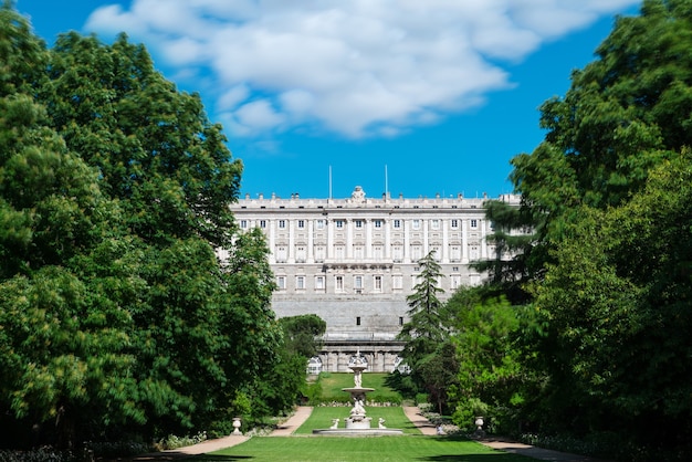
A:
MULTIPOLYGON (((97 172, 52 130, 34 101, 49 53, 27 21, 0 8, 0 407, 4 442, 30 428, 69 445, 80 430, 141 421, 129 398, 129 314, 106 279, 127 251, 117 204, 97 172), (98 262, 98 263, 97 263, 98 262), (76 416, 81 421, 76 421, 76 416), (9 420, 9 421, 8 421, 9 420), (17 424, 20 422, 20 424, 17 424)), ((132 276, 129 271, 127 277, 132 276)), ((120 291, 125 291, 125 282, 120 291)), ((12 438, 15 440, 11 440, 12 438)))

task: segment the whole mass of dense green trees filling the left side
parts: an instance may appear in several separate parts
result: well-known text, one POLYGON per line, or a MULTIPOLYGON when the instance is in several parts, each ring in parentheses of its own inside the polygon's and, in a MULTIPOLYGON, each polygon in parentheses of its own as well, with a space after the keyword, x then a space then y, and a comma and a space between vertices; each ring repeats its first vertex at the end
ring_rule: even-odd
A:
POLYGON ((9 2, 0 69, 1 442, 155 438, 290 406, 266 398, 297 392, 268 379, 283 332, 266 244, 233 223, 242 165, 199 96, 124 35, 48 50, 9 2))

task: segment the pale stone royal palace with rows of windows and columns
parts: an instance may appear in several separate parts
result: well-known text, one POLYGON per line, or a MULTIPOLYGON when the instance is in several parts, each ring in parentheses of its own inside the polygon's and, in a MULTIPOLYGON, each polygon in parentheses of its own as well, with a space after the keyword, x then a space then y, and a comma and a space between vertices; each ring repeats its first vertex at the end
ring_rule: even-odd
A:
MULTIPOLYGON (((429 252, 440 264, 444 300, 483 274, 469 263, 492 259, 486 237, 493 223, 487 198, 366 198, 356 187, 347 199, 290 199, 245 196, 231 206, 241 229, 260 228, 271 250, 276 279, 272 307, 279 317, 316 314, 327 324, 324 349, 313 371, 348 371, 359 349, 368 370, 391 371, 408 321, 406 297, 429 252)), ((518 204, 516 196, 497 200, 518 204)))

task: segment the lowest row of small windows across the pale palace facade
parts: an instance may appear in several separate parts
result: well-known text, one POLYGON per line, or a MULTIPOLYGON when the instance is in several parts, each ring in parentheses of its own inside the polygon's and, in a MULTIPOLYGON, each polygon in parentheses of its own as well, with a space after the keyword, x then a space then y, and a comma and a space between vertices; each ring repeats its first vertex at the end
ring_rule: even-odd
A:
MULTIPOLYGON (((459 267, 454 267, 453 271, 459 271, 459 267)), ((317 292, 326 292, 327 287, 326 287, 326 276, 324 275, 319 275, 319 276, 314 276, 314 286, 313 287, 307 287, 307 276, 304 275, 297 275, 294 276, 295 277, 295 286, 294 288, 296 291, 305 291, 307 288, 314 288, 317 292)), ((334 276, 334 292, 335 293, 345 293, 345 292, 350 292, 354 291, 356 293, 361 293, 364 291, 369 291, 369 292, 382 292, 384 286, 382 286, 382 282, 384 282, 384 276, 380 274, 376 274, 371 276, 371 282, 370 285, 366 286, 367 280, 365 275, 361 274, 356 274, 350 276, 352 277, 352 286, 346 286, 345 282, 346 282, 346 276, 345 275, 335 275, 334 276)), ((418 283, 418 277, 419 275, 417 274, 412 274, 410 276, 411 279, 411 287, 413 287, 417 283, 418 283)), ((449 277, 450 281, 450 286, 452 290, 458 288, 461 285, 461 276, 459 274, 452 274, 449 277)), ((276 276, 276 286, 279 287, 280 291, 285 291, 287 290, 287 276, 276 276)), ((402 274, 394 274, 391 276, 391 288, 395 291, 401 291, 403 290, 403 275, 402 274)))

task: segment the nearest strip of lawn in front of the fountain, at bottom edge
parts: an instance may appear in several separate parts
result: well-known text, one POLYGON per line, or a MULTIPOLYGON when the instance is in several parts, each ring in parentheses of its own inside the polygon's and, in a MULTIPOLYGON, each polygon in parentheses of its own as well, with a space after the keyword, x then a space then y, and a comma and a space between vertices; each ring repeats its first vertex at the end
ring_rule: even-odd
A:
POLYGON ((475 441, 452 437, 254 437, 222 451, 201 455, 196 462, 532 462, 517 454, 495 451, 475 441))

